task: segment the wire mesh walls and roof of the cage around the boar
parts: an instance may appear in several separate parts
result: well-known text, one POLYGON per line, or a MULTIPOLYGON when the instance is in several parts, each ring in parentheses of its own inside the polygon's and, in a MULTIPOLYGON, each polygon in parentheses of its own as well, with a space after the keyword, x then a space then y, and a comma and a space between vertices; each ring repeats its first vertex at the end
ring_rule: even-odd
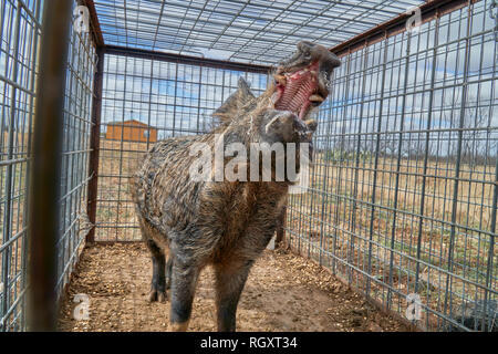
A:
MULTIPOLYGON (((0 331, 27 329, 30 168, 43 0, 0 2, 0 331)), ((496 2, 74 1, 56 293, 85 242, 141 239, 128 179, 158 139, 201 134, 300 40, 343 65, 317 117, 310 184, 280 235, 426 331, 496 331, 496 2), (75 28, 86 7, 89 31, 75 28), (411 7, 421 25, 407 28, 411 7), (494 11, 494 12, 491 12, 494 11), (489 13, 494 14, 490 17, 489 13), (422 308, 419 317, 408 313, 422 308)))

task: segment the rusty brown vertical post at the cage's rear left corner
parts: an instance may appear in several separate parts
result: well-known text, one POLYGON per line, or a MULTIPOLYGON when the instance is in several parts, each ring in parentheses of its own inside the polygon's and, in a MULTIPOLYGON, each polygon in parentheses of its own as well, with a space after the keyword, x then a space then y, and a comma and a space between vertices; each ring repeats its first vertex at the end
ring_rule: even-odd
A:
POLYGON ((86 235, 86 242, 95 241, 95 221, 98 196, 98 160, 101 147, 101 114, 102 114, 102 91, 104 82, 104 49, 97 46, 97 65, 93 80, 93 103, 92 103, 92 135, 90 140, 90 163, 89 163, 89 192, 87 212, 92 229, 86 235))

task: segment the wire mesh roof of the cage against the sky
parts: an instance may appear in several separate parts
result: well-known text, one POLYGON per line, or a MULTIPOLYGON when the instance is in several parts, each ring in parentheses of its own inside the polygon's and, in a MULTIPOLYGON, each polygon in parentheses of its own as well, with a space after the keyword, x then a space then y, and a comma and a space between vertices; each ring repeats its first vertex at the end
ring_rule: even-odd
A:
POLYGON ((334 46, 425 1, 95 0, 107 45, 274 64, 299 41, 334 46))

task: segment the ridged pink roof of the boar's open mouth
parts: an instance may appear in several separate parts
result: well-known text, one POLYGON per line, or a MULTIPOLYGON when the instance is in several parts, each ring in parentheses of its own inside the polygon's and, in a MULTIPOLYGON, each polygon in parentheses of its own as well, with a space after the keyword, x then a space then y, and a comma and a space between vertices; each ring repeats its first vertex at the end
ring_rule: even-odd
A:
POLYGON ((317 92, 318 70, 319 63, 315 62, 304 70, 288 75, 287 85, 277 86, 279 100, 276 108, 294 112, 301 119, 304 118, 311 106, 310 96, 317 92))

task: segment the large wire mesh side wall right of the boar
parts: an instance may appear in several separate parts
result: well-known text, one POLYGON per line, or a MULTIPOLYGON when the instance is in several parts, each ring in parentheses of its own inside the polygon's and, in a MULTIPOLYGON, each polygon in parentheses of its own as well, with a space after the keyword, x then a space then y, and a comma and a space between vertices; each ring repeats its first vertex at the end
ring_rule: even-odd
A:
POLYGON ((294 250, 426 330, 498 329, 490 3, 344 56, 290 198, 294 250))

